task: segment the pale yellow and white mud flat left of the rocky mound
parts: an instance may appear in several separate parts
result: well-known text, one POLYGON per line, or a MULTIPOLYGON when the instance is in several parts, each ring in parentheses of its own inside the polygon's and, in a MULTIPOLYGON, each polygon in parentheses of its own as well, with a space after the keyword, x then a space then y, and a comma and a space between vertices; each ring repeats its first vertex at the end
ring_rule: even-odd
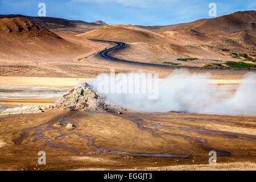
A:
MULTIPOLYGON (((0 77, 0 105, 52 105, 69 88, 90 78, 0 77)), ((3 108, 0 108, 3 110, 3 108)))

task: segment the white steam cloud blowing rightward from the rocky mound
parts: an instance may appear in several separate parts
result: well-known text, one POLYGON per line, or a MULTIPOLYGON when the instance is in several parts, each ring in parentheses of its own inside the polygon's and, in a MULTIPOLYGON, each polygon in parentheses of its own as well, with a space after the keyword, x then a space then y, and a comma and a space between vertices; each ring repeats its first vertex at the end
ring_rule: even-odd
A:
MULTIPOLYGON (((103 94, 108 100, 133 110, 256 116, 255 73, 245 74, 233 93, 210 83, 209 77, 184 70, 174 71, 167 79, 159 81, 156 100, 148 100, 147 94, 103 94)), ((97 79, 90 84, 97 88, 97 79)))

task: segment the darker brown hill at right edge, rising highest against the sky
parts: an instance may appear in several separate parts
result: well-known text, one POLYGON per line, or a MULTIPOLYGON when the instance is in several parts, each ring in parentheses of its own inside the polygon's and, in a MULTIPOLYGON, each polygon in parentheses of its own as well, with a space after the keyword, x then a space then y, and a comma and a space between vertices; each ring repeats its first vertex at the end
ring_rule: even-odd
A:
POLYGON ((255 22, 256 11, 238 11, 217 18, 199 19, 159 28, 155 32, 190 45, 253 53, 255 22))

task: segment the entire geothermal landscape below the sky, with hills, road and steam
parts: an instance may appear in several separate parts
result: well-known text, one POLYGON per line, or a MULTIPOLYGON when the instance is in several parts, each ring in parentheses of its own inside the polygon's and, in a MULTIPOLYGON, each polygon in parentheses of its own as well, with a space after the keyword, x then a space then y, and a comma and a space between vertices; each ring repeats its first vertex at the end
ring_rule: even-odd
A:
POLYGON ((255 23, 256 11, 170 26, 0 15, 0 169, 255 170, 255 23), (113 70, 126 89, 130 73, 158 75, 156 99, 102 93, 113 70))

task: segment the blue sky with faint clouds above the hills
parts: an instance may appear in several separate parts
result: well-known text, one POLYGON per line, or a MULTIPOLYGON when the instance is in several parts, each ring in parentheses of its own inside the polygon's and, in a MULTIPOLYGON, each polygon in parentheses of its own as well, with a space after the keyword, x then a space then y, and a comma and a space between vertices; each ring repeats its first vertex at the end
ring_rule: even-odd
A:
POLYGON ((169 25, 211 18, 209 3, 216 3, 217 16, 255 10, 253 0, 0 0, 0 14, 38 15, 38 4, 46 4, 46 15, 108 24, 169 25))

